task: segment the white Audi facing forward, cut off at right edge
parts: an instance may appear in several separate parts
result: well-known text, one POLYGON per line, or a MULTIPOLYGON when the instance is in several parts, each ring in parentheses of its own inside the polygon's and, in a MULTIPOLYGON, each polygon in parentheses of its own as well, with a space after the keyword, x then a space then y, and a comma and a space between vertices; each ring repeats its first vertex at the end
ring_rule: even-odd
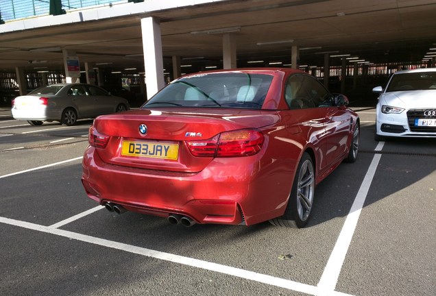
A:
POLYGON ((436 137, 436 68, 397 71, 379 93, 375 140, 436 137))

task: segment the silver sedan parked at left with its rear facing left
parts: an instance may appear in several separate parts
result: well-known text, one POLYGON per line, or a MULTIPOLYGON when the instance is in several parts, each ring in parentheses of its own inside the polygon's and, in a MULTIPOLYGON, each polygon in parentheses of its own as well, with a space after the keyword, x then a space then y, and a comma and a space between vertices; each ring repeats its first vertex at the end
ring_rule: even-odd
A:
POLYGON ((77 119, 129 109, 126 99, 89 84, 51 84, 12 101, 14 119, 27 120, 31 125, 44 121, 75 125, 77 119))

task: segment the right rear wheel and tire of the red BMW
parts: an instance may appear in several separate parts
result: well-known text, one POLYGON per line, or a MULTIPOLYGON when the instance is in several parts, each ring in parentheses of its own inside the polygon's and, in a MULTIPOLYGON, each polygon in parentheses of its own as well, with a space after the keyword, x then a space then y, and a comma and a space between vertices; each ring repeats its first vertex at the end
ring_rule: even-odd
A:
POLYGON ((298 163, 291 195, 282 217, 269 222, 283 227, 304 227, 311 216, 313 197, 315 196, 315 167, 308 153, 304 152, 298 163))

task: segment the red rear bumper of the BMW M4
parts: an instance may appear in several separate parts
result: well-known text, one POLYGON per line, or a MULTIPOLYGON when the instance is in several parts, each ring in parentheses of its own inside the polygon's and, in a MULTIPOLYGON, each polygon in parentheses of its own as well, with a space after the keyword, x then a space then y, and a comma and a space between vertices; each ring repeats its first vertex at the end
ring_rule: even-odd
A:
POLYGON ((88 147, 82 184, 88 197, 101 205, 111 202, 158 217, 182 214, 196 223, 249 225, 277 217, 284 210, 265 198, 265 190, 273 194, 274 189, 260 184, 256 172, 260 166, 253 164, 258 157, 237 164, 221 159, 199 173, 170 173, 107 164, 94 147, 88 147), (259 185, 266 188, 259 190, 259 185), (264 203, 274 210, 269 212, 264 203))

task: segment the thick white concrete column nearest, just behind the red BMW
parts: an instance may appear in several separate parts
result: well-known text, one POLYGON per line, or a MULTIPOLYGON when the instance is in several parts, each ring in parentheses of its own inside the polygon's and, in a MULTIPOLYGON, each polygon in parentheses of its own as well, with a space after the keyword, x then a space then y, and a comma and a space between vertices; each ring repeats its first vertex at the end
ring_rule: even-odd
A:
POLYGON ((151 98, 165 86, 160 22, 152 16, 141 18, 147 97, 151 98))

